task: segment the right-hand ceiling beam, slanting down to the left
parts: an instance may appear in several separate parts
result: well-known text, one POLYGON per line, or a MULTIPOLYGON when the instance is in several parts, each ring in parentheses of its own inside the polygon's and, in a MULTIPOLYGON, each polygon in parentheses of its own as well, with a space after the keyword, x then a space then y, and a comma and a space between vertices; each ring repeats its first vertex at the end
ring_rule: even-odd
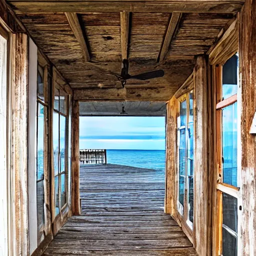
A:
POLYGON ((181 18, 180 12, 173 12, 169 21, 169 25, 163 39, 162 47, 159 52, 158 61, 162 62, 170 48, 171 40, 177 30, 179 20, 181 18))

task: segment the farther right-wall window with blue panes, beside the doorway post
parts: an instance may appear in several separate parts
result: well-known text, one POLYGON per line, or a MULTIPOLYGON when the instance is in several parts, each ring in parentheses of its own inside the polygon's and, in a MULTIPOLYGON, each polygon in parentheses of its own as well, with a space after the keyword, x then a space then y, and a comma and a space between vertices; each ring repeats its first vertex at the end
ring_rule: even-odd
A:
POLYGON ((193 91, 181 96, 177 118, 178 211, 192 229, 193 222, 193 91))

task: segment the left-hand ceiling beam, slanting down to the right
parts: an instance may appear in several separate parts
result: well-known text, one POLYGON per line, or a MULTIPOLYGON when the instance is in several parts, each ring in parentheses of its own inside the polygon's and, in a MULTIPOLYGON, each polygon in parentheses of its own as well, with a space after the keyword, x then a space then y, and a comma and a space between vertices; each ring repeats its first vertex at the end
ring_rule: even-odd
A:
POLYGON ((77 17, 77 14, 74 12, 65 12, 67 21, 74 33, 75 38, 80 44, 81 50, 83 52, 83 57, 85 61, 90 61, 90 54, 88 51, 88 47, 86 45, 86 41, 77 17))

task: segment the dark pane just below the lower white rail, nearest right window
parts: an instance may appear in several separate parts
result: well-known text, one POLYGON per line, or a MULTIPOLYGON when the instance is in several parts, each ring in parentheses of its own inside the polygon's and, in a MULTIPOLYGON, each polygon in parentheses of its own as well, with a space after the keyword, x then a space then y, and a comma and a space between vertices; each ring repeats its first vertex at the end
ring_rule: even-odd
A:
POLYGON ((237 232, 237 199, 222 193, 223 224, 237 232))

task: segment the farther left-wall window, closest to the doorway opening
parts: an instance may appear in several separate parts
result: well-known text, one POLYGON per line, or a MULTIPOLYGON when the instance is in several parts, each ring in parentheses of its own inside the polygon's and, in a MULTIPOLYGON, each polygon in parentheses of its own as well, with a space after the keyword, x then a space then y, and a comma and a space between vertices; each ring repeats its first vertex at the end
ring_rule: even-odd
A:
POLYGON ((67 202, 68 169, 68 96, 61 88, 54 90, 53 106, 53 163, 55 187, 55 215, 67 202))

